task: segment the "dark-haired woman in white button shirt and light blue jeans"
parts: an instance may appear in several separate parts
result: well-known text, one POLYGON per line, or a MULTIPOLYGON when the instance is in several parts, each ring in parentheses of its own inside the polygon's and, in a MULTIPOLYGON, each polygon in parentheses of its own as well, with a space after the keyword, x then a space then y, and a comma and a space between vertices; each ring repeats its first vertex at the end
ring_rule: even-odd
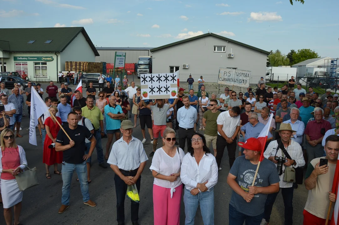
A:
POLYGON ((184 188, 185 225, 194 225, 200 203, 204 225, 214 224, 214 191, 218 182, 218 166, 215 157, 206 146, 200 133, 192 136, 192 148, 182 159, 180 178, 184 188))

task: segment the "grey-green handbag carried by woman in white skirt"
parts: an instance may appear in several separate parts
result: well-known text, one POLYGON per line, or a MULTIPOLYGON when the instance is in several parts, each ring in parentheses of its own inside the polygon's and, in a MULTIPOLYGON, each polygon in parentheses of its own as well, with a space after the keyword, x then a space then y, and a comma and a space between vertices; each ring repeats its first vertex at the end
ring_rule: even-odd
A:
POLYGON ((37 167, 30 169, 26 164, 24 164, 28 170, 25 172, 21 171, 18 175, 15 176, 17 180, 19 190, 26 190, 30 187, 34 187, 39 184, 37 167))

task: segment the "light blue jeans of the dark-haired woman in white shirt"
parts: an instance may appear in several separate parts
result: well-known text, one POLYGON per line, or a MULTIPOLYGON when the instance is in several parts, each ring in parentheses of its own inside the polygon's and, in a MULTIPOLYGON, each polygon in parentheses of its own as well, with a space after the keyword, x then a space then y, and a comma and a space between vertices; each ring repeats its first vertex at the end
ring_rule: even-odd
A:
POLYGON ((200 203, 200 210, 204 225, 214 225, 214 190, 192 195, 184 188, 185 225, 194 225, 194 218, 200 203))

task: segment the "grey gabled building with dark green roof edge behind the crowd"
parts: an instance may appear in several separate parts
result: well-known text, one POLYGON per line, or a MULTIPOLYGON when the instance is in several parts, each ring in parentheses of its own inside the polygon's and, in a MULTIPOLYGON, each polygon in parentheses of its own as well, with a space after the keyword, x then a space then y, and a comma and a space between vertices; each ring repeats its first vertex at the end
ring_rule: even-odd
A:
POLYGON ((267 54, 270 52, 214 33, 205 33, 150 49, 154 73, 180 70, 180 80, 191 74, 197 82, 217 82, 219 67, 251 71, 251 84, 265 77, 267 54))

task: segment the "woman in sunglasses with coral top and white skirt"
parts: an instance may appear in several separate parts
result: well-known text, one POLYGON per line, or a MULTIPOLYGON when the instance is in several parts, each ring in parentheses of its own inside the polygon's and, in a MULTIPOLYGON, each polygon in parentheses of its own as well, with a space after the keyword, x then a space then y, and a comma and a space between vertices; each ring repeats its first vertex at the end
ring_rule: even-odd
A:
POLYGON ((0 189, 3 215, 6 225, 12 225, 12 207, 14 206, 14 224, 22 225, 19 222, 19 216, 23 192, 19 190, 15 176, 26 167, 26 154, 23 148, 15 143, 14 132, 11 129, 1 132, 0 144, 0 189))

